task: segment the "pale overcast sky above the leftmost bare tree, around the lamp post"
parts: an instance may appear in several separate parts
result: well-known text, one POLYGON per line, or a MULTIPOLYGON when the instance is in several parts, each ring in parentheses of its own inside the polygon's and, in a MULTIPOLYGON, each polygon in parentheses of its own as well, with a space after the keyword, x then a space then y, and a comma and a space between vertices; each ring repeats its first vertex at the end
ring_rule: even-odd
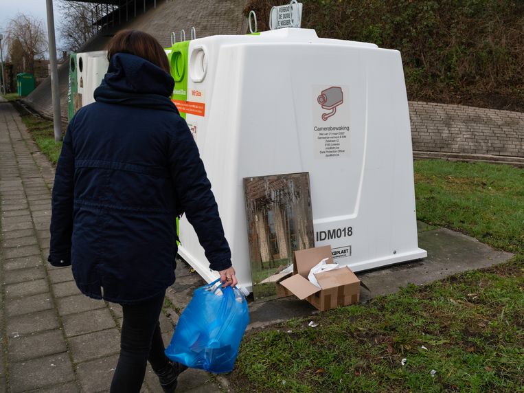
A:
MULTIPOLYGON (((47 3, 45 0, 0 0, 0 33, 5 36, 5 28, 8 27, 10 19, 13 19, 16 14, 21 13, 31 15, 34 18, 41 20, 47 36, 47 14, 45 3, 47 3)), ((58 3, 58 1, 54 0, 55 30, 57 25, 60 24, 60 14, 58 14, 58 11, 56 10, 56 3, 58 3)), ((58 34, 56 34, 56 36, 56 39, 58 40, 58 34)), ((56 45, 59 47, 60 43, 57 41, 56 45)))

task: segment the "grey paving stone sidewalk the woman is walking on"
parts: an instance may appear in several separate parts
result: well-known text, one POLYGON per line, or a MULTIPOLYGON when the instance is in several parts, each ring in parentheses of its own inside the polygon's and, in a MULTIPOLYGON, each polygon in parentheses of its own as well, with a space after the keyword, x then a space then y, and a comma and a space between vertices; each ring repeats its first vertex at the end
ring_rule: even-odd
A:
MULTIPOLYGON (((85 297, 69 267, 45 262, 53 181, 19 113, 0 100, 0 393, 108 392, 116 366, 121 307, 85 297)), ((161 315, 166 344, 201 283, 183 263, 176 273, 161 315)), ((177 392, 220 392, 216 381, 187 370, 177 392)), ((149 366, 142 391, 162 392, 149 366)))

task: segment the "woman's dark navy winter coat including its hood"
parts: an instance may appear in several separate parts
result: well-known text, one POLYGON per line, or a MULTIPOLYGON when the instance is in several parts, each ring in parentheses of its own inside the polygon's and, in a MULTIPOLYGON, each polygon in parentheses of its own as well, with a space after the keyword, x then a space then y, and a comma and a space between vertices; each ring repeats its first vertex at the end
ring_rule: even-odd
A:
POLYGON ((198 148, 169 99, 169 74, 115 54, 93 104, 71 120, 56 166, 49 262, 82 293, 146 300, 174 282, 175 218, 185 212, 209 267, 231 266, 198 148))

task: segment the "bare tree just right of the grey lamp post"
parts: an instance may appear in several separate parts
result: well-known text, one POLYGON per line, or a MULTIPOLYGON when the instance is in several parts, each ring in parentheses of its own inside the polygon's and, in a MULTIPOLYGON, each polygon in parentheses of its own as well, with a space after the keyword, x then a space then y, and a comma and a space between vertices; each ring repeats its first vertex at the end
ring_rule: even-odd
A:
POLYGON ((56 3, 61 18, 58 34, 62 49, 74 52, 80 49, 95 32, 93 27, 93 3, 59 0, 56 3))

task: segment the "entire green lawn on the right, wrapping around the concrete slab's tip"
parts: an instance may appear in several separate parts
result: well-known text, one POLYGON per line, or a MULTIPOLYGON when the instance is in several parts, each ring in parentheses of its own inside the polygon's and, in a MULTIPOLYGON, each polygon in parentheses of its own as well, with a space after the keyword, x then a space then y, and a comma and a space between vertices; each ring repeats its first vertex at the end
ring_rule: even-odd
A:
POLYGON ((516 256, 247 333, 235 390, 524 392, 524 170, 416 161, 415 183, 419 219, 516 256))

